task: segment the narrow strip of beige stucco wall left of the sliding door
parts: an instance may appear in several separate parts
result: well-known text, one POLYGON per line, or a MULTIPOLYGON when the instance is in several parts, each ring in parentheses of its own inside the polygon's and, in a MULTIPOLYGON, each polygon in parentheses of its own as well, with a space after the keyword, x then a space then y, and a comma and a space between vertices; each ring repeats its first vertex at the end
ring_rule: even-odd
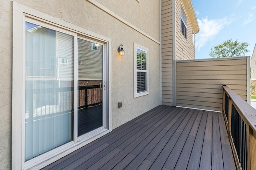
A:
POLYGON ((12 108, 12 8, 0 3, 0 170, 10 169, 12 108))

